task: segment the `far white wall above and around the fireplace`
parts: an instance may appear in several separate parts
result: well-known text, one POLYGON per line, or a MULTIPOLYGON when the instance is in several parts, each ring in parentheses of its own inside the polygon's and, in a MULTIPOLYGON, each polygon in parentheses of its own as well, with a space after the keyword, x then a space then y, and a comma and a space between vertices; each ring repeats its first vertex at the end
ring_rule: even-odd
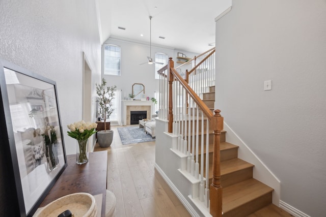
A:
MULTIPOLYGON (((150 55, 149 45, 128 42, 118 39, 108 39, 104 44, 113 44, 121 47, 121 76, 104 75, 102 67, 102 76, 106 79, 107 85, 117 85, 117 89, 121 89, 121 98, 128 97, 132 93, 132 84, 142 83, 145 86, 145 94, 152 98, 154 97, 154 91, 159 91, 159 80, 155 79, 155 65, 140 65, 147 63, 147 56, 150 55)), ((151 49, 151 57, 155 60, 155 53, 165 53, 168 57, 172 57, 175 61, 175 67, 180 64, 176 63, 177 53, 182 52, 188 57, 194 57, 196 53, 180 51, 171 48, 163 48, 159 46, 153 46, 151 49)), ((102 48, 102 61, 103 60, 103 48, 102 48)), ((163 67, 164 65, 162 65, 163 67)), ((129 98, 129 97, 128 97, 129 98)), ((123 108, 122 108, 123 109, 123 108)), ((122 118, 123 119, 123 118, 122 118)))

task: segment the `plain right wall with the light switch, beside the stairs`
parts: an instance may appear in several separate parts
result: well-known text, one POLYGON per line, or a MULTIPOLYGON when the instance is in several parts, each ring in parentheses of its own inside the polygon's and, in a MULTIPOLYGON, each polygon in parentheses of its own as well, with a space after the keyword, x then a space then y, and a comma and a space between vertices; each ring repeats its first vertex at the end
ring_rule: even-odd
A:
POLYGON ((283 203, 324 216, 326 2, 233 0, 216 48, 224 120, 281 180, 283 203))

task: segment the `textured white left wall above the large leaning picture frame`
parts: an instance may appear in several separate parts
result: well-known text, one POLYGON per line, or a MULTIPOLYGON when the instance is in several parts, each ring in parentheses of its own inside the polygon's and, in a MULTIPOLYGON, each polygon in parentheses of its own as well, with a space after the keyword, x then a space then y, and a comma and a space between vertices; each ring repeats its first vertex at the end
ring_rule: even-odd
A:
MULTIPOLYGON (((66 126, 83 118, 83 52, 92 68, 93 96, 101 76, 95 3, 2 0, 0 8, 0 57, 57 82, 66 151, 75 153, 66 126)), ((92 108, 94 114, 95 103, 92 108)))

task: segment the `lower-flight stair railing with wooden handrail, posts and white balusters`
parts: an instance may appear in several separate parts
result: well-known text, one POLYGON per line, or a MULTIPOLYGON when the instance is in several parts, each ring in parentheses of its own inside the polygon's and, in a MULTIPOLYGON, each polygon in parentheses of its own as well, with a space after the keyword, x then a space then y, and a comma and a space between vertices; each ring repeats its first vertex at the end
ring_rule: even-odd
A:
POLYGON ((211 215, 222 216, 220 135, 223 130, 223 117, 220 110, 214 110, 213 114, 174 68, 172 58, 158 74, 159 118, 168 120, 166 130, 178 137, 172 149, 186 156, 186 164, 181 165, 181 171, 200 183, 198 189, 192 190, 191 197, 199 198, 209 207, 211 215), (213 134, 213 178, 210 187, 209 154, 205 154, 205 159, 204 154, 201 154, 199 159, 199 153, 204 153, 204 146, 206 153, 209 153, 209 134, 213 134))

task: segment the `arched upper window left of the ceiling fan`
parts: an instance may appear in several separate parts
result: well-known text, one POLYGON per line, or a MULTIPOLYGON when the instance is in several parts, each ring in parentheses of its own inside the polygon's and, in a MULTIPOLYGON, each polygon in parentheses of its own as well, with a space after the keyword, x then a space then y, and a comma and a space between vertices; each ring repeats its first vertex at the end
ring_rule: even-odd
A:
POLYGON ((104 45, 104 75, 120 75, 121 48, 116 45, 104 45))

